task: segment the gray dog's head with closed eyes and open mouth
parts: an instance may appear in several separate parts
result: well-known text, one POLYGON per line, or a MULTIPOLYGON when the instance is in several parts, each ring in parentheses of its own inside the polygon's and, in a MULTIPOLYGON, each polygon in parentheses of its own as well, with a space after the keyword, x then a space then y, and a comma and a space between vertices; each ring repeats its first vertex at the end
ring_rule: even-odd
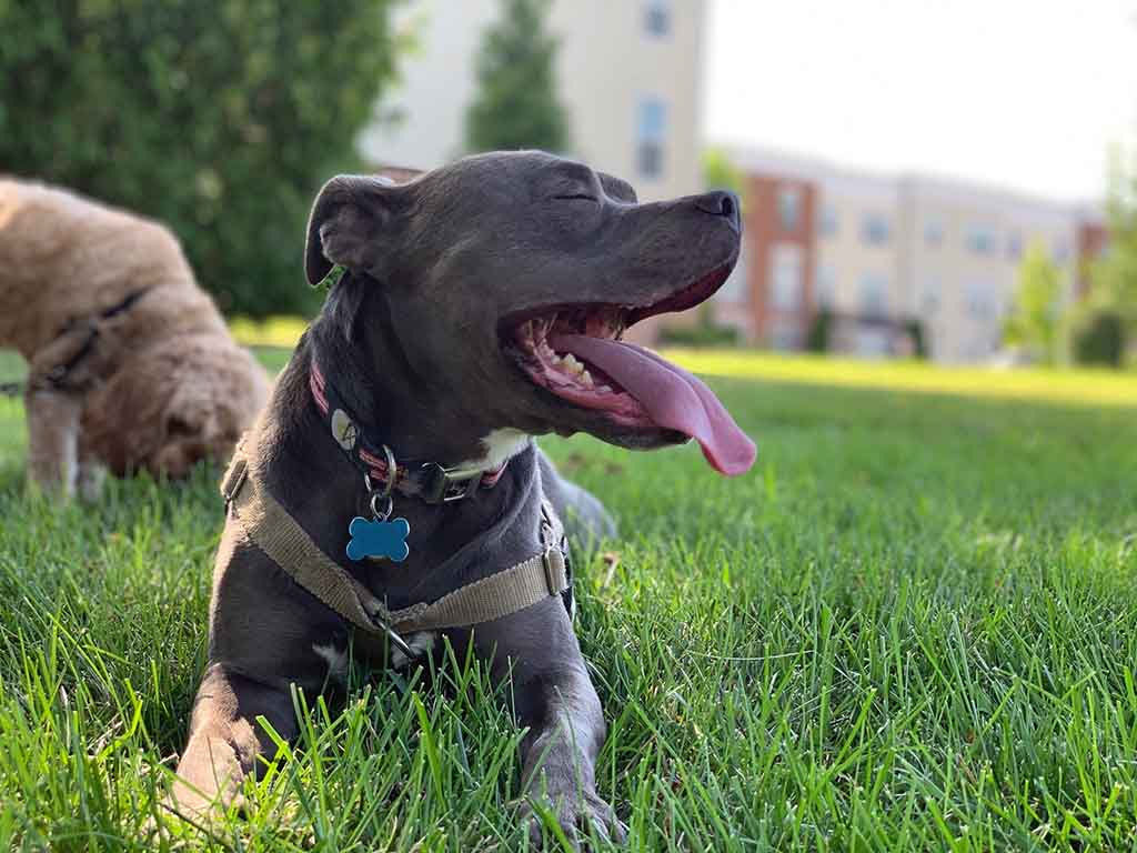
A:
POLYGON ((738 473, 754 446, 714 395, 621 336, 714 293, 740 230, 730 193, 638 204, 580 163, 489 154, 401 185, 333 179, 306 268, 312 283, 332 264, 355 273, 349 334, 381 336, 416 394, 456 417, 638 448, 694 437, 738 473))

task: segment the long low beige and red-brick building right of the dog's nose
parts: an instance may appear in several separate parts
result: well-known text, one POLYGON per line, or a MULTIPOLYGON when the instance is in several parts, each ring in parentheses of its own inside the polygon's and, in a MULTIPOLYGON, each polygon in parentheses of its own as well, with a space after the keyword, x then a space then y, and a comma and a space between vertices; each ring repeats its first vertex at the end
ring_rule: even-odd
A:
POLYGON ((926 175, 889 175, 769 151, 746 174, 744 263, 717 297, 748 340, 800 349, 820 310, 833 349, 981 362, 999 348, 1022 254, 1040 245, 1076 296, 1074 208, 926 175))

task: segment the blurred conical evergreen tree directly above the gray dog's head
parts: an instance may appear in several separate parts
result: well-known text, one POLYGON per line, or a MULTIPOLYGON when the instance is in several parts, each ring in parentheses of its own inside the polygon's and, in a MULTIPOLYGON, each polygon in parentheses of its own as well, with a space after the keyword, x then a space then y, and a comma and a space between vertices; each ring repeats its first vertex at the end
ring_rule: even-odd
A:
POLYGON ((501 18, 487 28, 475 59, 478 96, 466 111, 468 151, 568 147, 548 10, 549 0, 504 0, 501 18))

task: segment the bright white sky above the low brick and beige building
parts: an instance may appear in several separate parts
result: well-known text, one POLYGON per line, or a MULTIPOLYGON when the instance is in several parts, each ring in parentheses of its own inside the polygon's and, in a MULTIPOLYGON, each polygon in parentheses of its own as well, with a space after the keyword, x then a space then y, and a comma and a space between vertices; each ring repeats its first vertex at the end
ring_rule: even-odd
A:
POLYGON ((1063 200, 1137 135, 1137 0, 708 0, 712 143, 1063 200))

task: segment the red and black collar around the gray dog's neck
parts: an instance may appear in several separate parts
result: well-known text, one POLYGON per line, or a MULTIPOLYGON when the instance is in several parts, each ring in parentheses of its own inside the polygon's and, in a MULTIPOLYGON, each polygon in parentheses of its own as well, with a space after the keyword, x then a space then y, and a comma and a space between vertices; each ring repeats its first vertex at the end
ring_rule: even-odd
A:
POLYGON ((372 495, 387 498, 392 491, 398 491, 428 504, 449 504, 468 497, 479 487, 493 488, 508 464, 485 470, 446 469, 437 462, 397 462, 390 447, 367 436, 363 423, 348 408, 335 386, 325 379, 315 358, 308 371, 308 387, 329 432, 364 475, 367 491, 372 495))

